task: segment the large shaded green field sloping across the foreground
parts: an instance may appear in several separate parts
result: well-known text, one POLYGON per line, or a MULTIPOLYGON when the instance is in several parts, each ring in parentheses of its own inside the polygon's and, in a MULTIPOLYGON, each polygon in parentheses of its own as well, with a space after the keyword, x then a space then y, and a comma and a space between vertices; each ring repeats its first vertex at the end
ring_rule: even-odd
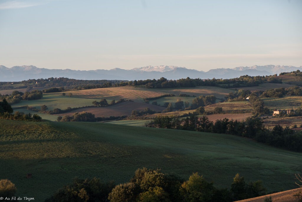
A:
POLYGON ((202 174, 230 187, 236 173, 262 180, 268 191, 296 188, 301 153, 233 135, 142 128, 95 122, 0 120, 1 178, 17 196, 43 201, 72 178, 129 181, 137 168, 162 168, 188 179, 202 174), (27 179, 26 174, 32 178, 27 179))

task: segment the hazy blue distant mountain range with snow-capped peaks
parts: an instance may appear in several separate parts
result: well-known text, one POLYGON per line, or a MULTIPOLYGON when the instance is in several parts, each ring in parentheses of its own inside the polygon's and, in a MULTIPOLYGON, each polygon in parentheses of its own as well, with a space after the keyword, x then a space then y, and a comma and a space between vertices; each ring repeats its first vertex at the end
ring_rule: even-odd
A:
POLYGON ((0 81, 22 81, 28 79, 39 79, 49 77, 67 77, 80 80, 146 80, 159 79, 165 77, 167 79, 180 78, 223 78, 230 79, 240 77, 242 75, 249 76, 266 76, 271 74, 279 74, 281 72, 291 72, 301 70, 302 66, 280 66, 265 65, 252 67, 235 67, 235 68, 219 68, 211 69, 207 72, 187 69, 177 66, 146 66, 134 68, 132 70, 124 70, 114 68, 111 70, 70 70, 70 69, 46 69, 30 66, 14 66, 7 68, 0 65, 0 81))

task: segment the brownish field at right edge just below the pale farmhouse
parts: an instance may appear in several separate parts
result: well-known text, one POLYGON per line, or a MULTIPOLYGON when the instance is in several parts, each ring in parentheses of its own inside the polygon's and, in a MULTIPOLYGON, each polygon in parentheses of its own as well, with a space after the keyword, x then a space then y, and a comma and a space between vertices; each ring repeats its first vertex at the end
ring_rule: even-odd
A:
POLYGON ((289 126, 292 128, 294 125, 300 127, 302 124, 302 116, 292 116, 283 118, 274 118, 270 116, 269 118, 263 119, 264 125, 267 128, 273 128, 275 125, 281 125, 282 127, 289 126))

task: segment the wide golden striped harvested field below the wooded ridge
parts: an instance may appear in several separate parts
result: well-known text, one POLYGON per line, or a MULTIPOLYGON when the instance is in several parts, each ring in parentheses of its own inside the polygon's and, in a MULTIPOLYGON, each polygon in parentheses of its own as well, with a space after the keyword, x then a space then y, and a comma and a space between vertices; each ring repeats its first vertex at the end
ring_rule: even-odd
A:
POLYGON ((219 88, 213 86, 197 86, 195 88, 161 88, 161 89, 148 89, 140 87, 111 87, 111 88, 98 88, 98 89, 87 89, 87 90, 74 90, 68 91, 72 93, 73 96, 79 98, 88 99, 132 99, 137 102, 143 102, 143 98, 147 97, 157 97, 165 94, 175 94, 179 95, 188 94, 191 96, 200 95, 214 95, 217 98, 224 98, 228 93, 234 92, 235 90, 230 90, 226 88, 219 88))

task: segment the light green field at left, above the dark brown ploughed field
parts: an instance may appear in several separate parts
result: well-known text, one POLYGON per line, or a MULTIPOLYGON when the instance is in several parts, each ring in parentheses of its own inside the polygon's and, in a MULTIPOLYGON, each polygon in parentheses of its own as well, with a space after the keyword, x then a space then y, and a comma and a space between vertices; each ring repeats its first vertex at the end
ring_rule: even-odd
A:
MULTIPOLYGON (((67 94, 67 93, 66 93, 67 94)), ((92 106, 92 102, 95 99, 86 99, 86 98, 76 98, 69 96, 62 96, 62 93, 46 93, 43 94, 42 99, 35 100, 21 100, 20 103, 13 104, 12 107, 19 107, 28 105, 31 107, 36 107, 40 109, 42 105, 46 105, 48 109, 66 109, 67 107, 82 107, 82 106, 92 106)), ((111 100, 108 100, 110 102, 111 100)))

